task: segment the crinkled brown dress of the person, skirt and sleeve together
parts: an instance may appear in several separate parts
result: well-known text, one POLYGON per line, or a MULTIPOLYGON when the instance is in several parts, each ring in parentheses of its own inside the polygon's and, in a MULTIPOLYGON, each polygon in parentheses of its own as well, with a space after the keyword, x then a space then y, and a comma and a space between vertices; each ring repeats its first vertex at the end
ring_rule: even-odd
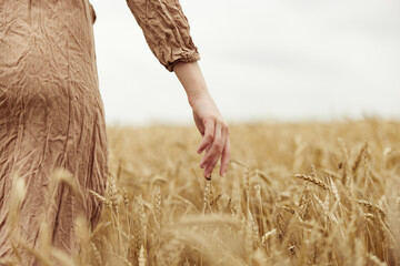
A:
MULTIPOLYGON (((200 59, 178 0, 127 3, 168 71, 200 59)), ((76 244, 74 219, 86 217, 92 229, 100 219, 103 206, 89 193, 104 195, 108 177, 97 19, 89 0, 0 0, 0 258, 14 252, 7 223, 14 175, 27 190, 17 226, 30 247, 38 246, 44 213, 52 244, 67 253, 76 244), (59 167, 72 173, 81 196, 64 182, 49 192, 59 167)))

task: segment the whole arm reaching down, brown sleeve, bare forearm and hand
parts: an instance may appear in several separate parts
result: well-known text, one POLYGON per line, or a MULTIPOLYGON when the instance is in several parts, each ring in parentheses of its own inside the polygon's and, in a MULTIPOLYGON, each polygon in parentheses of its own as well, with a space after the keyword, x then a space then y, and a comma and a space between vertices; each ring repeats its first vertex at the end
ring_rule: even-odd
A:
POLYGON ((196 125, 203 135, 198 153, 206 151, 200 162, 204 176, 211 176, 220 157, 223 175, 230 156, 229 129, 207 90, 197 62, 200 54, 179 0, 127 0, 127 3, 152 53, 168 71, 177 74, 188 93, 196 125))

